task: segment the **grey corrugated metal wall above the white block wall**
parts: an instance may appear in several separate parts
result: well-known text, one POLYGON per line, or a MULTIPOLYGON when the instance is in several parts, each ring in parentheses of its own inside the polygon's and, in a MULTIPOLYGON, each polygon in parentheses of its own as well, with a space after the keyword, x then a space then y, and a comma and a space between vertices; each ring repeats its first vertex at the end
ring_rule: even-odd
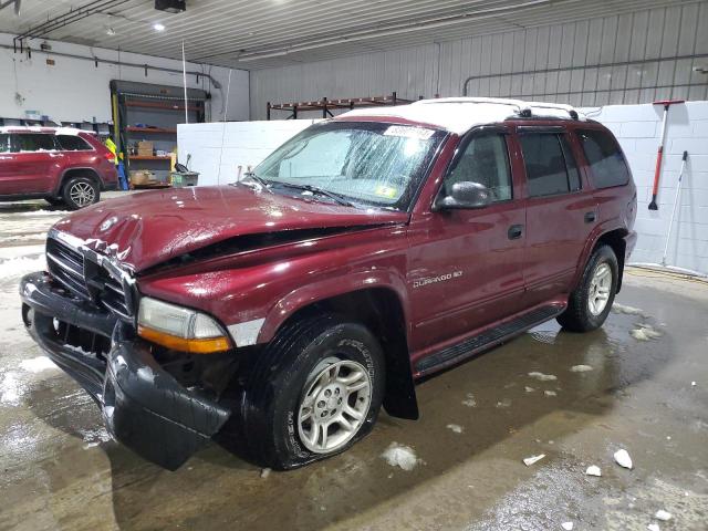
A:
MULTIPOLYGON (((267 102, 384 95, 501 96, 577 106, 708 100, 708 1, 251 72, 267 102)), ((274 114, 273 117, 277 117, 274 114)), ((283 115, 284 117, 284 115, 283 115)), ((313 117, 312 113, 302 117, 313 117)))

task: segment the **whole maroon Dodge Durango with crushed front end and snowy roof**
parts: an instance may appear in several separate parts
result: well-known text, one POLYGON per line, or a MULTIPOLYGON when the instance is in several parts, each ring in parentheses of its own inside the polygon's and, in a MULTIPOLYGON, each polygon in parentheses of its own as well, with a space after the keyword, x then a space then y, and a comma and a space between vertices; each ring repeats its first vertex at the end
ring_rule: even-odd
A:
POLYGON ((232 186, 59 221, 22 279, 32 337, 113 436, 168 468, 216 437, 288 469, 339 454, 414 383, 622 285, 636 191, 571 107, 421 101, 315 124, 232 186))

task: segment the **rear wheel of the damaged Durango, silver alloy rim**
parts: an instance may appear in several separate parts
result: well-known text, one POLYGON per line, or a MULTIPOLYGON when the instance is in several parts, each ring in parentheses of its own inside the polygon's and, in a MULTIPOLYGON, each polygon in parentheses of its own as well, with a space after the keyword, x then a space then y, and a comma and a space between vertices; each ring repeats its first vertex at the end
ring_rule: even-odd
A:
POLYGON ((561 326, 572 332, 590 332, 602 326, 615 300, 618 271, 612 248, 595 249, 580 284, 569 298, 568 308, 558 316, 561 326))

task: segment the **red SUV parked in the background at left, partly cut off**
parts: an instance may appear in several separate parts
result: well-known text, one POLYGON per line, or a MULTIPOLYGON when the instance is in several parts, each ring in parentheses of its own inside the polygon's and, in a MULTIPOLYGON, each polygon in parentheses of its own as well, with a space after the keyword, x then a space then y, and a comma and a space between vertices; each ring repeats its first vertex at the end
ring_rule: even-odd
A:
POLYGON ((95 135, 66 127, 0 127, 0 200, 46 199, 71 210, 115 189, 115 156, 95 135))

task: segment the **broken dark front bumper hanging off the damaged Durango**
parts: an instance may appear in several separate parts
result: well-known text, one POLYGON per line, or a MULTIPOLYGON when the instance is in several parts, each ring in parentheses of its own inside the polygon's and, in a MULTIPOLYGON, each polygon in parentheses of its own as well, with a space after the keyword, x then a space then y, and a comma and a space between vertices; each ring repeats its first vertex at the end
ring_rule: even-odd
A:
POLYGON ((30 335, 95 399, 111 435, 145 459, 175 470, 229 418, 228 408, 186 389, 164 371, 131 325, 69 296, 45 273, 24 277, 20 295, 30 335), (104 343, 110 337, 111 347, 94 354, 71 346, 58 323, 104 343))

